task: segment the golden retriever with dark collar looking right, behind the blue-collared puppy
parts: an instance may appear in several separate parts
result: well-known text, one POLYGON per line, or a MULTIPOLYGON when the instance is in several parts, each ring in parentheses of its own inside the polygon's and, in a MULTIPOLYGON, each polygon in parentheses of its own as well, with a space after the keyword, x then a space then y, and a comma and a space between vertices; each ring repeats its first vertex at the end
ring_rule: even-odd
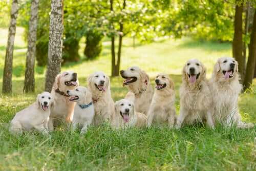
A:
POLYGON ((51 94, 55 100, 55 107, 51 109, 49 129, 54 130, 60 122, 70 123, 74 114, 75 102, 69 101, 68 90, 78 86, 77 73, 65 71, 55 77, 51 94))

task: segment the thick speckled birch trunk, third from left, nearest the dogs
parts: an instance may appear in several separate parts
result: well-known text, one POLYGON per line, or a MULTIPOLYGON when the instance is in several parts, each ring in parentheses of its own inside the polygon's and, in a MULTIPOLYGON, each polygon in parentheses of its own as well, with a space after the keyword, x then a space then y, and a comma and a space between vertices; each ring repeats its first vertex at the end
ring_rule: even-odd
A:
POLYGON ((50 92, 54 79, 60 72, 63 34, 63 0, 51 1, 48 65, 45 90, 50 92))

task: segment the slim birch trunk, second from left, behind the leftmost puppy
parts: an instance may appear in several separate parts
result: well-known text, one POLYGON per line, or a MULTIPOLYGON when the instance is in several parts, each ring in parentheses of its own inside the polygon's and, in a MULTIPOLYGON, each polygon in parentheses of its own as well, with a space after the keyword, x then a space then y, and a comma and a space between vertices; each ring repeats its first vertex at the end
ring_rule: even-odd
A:
POLYGON ((28 35, 28 52, 26 59, 26 71, 24 89, 26 93, 35 91, 35 53, 36 53, 36 28, 39 0, 31 2, 29 35, 28 35))

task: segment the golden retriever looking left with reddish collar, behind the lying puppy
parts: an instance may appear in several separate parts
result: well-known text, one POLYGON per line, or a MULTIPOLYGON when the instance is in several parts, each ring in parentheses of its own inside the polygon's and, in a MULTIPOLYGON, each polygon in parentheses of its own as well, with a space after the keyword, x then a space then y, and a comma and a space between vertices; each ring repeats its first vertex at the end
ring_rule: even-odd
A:
POLYGON ((121 70, 120 75, 124 78, 123 86, 129 90, 125 99, 134 102, 135 111, 147 115, 154 93, 150 77, 139 67, 121 70))

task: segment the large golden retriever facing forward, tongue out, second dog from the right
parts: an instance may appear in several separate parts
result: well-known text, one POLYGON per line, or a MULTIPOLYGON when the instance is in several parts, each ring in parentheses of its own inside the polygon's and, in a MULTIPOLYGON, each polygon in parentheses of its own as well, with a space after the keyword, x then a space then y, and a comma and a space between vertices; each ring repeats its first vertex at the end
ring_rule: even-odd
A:
POLYGON ((180 87, 180 115, 177 127, 183 124, 207 121, 208 126, 214 127, 212 118, 212 96, 209 82, 206 80, 206 69, 197 59, 185 63, 180 87))

